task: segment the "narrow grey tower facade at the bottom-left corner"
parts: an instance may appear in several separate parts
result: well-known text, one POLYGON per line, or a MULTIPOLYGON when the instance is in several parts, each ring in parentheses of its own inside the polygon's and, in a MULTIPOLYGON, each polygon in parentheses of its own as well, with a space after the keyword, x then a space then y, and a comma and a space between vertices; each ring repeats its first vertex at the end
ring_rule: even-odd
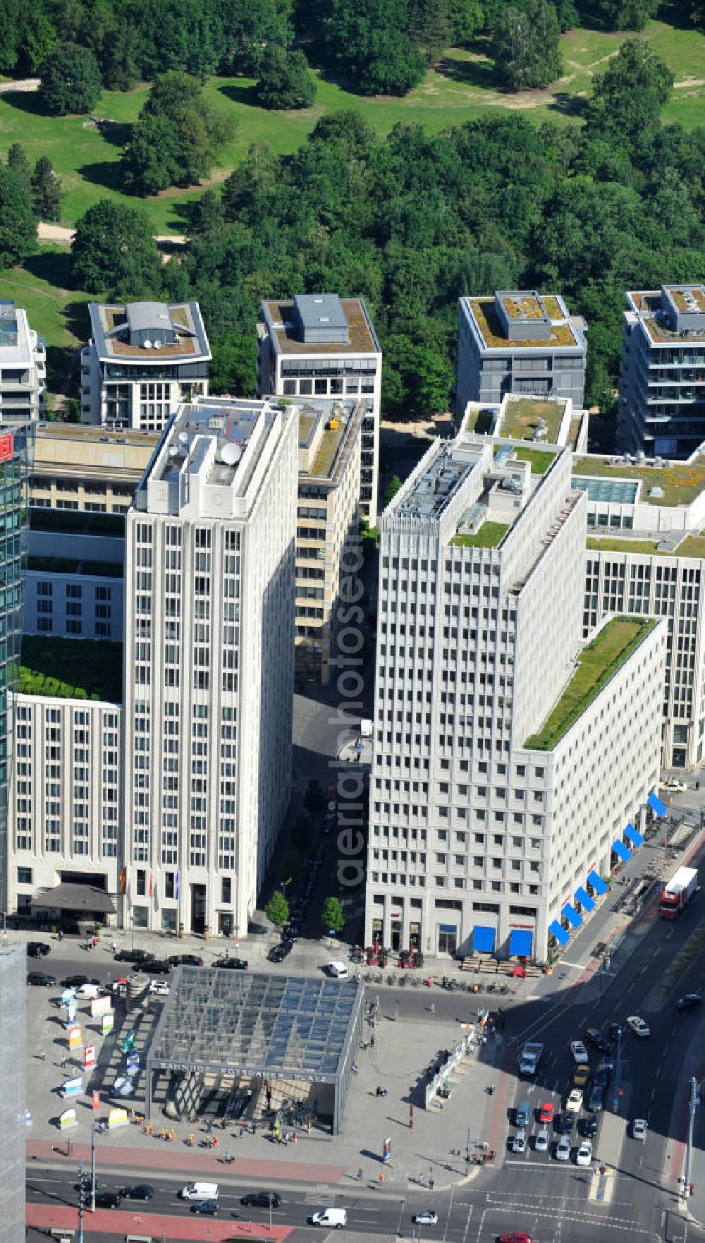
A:
POLYGON ((25 1238, 26 979, 25 946, 0 946, 0 1243, 25 1238))

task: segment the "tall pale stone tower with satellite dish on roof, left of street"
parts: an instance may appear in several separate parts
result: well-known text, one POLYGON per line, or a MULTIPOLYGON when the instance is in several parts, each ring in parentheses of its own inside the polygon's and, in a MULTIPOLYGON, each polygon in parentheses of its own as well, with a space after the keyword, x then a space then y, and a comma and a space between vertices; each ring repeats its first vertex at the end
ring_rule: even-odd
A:
POLYGON ((289 799, 298 414, 185 405, 125 531, 125 922, 246 935, 289 799))

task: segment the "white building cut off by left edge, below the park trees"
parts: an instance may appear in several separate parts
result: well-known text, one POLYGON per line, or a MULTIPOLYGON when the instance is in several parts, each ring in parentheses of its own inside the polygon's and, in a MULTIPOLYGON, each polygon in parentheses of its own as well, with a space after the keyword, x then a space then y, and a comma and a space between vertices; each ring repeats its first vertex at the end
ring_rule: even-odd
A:
POLYGON ((0 301, 0 425, 36 423, 43 413, 46 343, 27 312, 0 301))

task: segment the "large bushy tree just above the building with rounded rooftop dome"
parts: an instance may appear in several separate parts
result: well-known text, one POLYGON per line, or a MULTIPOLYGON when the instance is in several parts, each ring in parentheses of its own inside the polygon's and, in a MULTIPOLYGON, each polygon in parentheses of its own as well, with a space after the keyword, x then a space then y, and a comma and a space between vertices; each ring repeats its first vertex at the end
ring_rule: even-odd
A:
POLYGON ((114 298, 155 296, 161 257, 144 211, 102 199, 76 225, 71 246, 73 283, 114 298))

